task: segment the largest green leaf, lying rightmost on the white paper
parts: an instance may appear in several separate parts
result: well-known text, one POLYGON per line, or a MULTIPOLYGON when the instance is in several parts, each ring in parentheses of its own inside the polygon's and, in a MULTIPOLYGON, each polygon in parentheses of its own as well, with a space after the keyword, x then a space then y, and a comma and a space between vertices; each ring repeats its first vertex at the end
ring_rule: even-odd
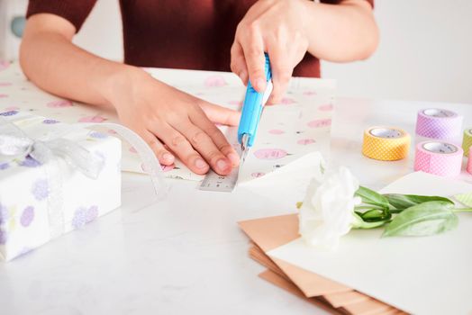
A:
POLYGON ((454 229, 458 216, 450 201, 422 202, 395 216, 386 226, 382 237, 427 236, 454 229))

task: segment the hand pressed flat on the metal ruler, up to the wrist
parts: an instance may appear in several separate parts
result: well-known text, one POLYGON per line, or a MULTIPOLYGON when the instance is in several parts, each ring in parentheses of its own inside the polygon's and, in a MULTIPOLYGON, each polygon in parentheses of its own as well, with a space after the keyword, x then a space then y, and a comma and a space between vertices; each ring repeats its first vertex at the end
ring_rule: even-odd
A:
POLYGON ((239 164, 239 156, 216 123, 235 126, 240 113, 207 103, 135 69, 115 85, 113 103, 120 120, 138 132, 162 165, 179 157, 196 174, 211 166, 220 175, 239 164))

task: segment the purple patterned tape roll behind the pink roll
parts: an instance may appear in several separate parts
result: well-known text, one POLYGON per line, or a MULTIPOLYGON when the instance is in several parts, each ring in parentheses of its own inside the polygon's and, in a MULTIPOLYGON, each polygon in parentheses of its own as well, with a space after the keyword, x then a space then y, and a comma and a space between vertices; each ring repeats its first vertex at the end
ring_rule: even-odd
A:
POLYGON ((418 112, 416 134, 432 139, 459 139, 463 117, 456 112, 428 108, 418 112))

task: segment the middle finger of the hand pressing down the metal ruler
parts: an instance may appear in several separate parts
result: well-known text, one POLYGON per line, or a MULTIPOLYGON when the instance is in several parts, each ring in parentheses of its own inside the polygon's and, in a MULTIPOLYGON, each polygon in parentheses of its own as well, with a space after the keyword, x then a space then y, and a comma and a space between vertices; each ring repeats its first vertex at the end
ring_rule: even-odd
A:
MULTIPOLYGON (((211 121, 208 121, 212 123, 211 121)), ((201 130, 191 121, 188 126, 180 131, 186 139, 189 139, 192 147, 194 147, 202 157, 212 166, 213 170, 219 175, 230 174, 232 166, 231 161, 226 157, 219 148, 213 143, 213 139, 201 130)))

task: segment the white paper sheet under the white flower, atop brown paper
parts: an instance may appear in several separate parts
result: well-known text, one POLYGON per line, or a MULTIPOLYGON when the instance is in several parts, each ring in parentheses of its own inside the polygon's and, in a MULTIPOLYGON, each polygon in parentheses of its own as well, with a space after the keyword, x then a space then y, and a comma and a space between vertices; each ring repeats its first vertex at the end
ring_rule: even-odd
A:
MULTIPOLYGON (((472 184, 413 173, 382 193, 450 196, 472 184)), ((472 312, 472 213, 459 214, 458 229, 424 238, 380 238, 381 229, 352 230, 336 252, 307 247, 300 238, 268 252, 313 273, 413 314, 472 312)))

